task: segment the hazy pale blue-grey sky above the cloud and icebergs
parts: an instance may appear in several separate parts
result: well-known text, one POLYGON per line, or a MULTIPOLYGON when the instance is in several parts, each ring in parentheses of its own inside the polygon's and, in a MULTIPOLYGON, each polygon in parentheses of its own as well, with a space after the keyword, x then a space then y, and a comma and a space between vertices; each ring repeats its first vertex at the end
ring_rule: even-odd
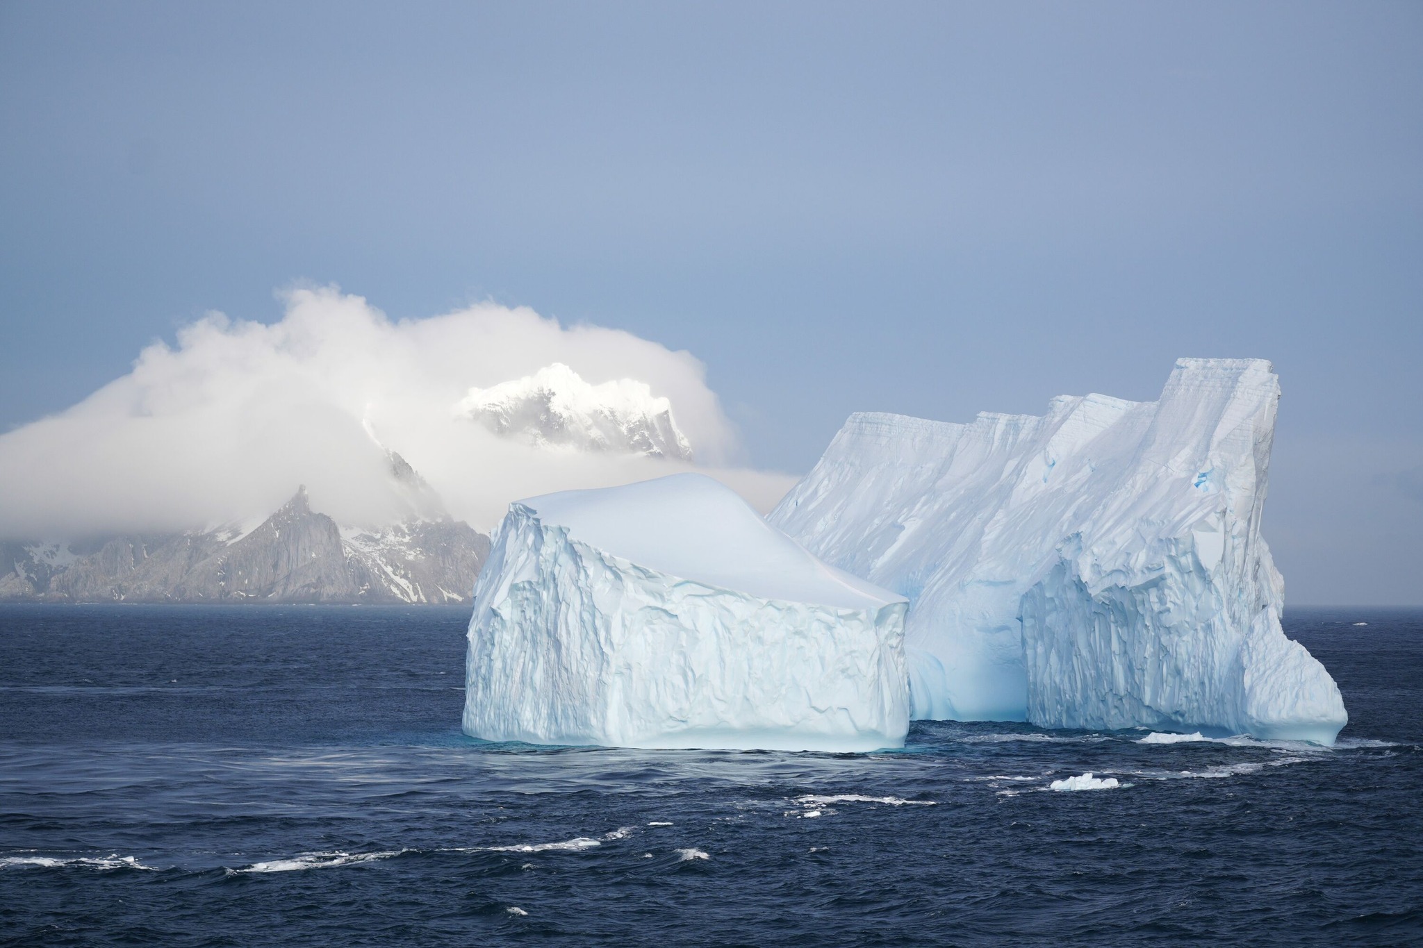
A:
POLYGON ((784 475, 1262 357, 1286 601, 1423 604, 1420 260, 1417 3, 0 3, 0 429, 293 287, 686 351, 784 475))

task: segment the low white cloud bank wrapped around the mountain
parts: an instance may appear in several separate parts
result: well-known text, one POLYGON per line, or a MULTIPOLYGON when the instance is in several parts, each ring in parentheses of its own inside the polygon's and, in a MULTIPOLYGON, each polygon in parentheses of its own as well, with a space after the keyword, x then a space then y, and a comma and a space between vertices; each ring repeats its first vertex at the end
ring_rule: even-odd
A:
POLYGON ((450 513, 494 527, 511 500, 703 470, 767 510, 794 478, 730 468, 736 432, 702 362, 619 330, 494 304, 391 321, 357 296, 303 289, 275 324, 208 316, 155 343, 78 405, 0 435, 0 536, 184 530, 265 516, 306 485, 342 523, 398 519, 371 435, 450 513), (461 411, 471 388, 551 364, 667 399, 696 465, 501 436, 461 411))

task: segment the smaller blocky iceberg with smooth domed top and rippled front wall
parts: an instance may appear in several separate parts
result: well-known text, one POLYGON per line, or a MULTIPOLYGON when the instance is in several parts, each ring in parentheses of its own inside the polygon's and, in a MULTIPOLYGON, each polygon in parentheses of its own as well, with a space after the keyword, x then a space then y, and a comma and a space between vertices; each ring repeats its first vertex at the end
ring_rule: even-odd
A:
POLYGON ((673 475, 514 503, 475 586, 464 731, 874 750, 909 728, 901 596, 673 475))

